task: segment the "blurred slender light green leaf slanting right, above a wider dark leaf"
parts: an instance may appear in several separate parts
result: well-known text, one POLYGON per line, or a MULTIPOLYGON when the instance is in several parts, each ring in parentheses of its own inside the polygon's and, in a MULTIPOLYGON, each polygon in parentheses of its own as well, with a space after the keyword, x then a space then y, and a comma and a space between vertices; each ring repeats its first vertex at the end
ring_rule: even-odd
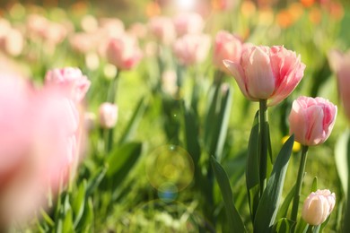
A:
POLYGON ((147 101, 144 97, 138 101, 134 110, 134 114, 133 116, 131 116, 130 121, 128 122, 123 134, 121 134, 118 144, 123 144, 127 142, 127 140, 131 138, 131 136, 135 133, 137 126, 139 125, 142 117, 144 116, 144 110, 147 107, 146 103, 147 101))

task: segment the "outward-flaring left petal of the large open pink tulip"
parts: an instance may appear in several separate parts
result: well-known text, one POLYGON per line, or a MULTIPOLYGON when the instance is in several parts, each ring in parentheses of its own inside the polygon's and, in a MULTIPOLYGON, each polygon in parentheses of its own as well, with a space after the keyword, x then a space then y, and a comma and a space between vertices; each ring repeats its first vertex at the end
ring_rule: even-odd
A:
POLYGON ((241 67, 241 65, 238 63, 234 63, 230 60, 223 60, 223 65, 225 65, 227 70, 230 73, 232 73, 232 76, 236 80, 243 95, 249 100, 252 100, 252 101, 258 100, 258 99, 255 99, 255 98, 252 98, 249 96, 249 93, 248 93, 247 87, 246 87, 246 83, 245 83, 245 75, 244 75, 243 68, 241 67))

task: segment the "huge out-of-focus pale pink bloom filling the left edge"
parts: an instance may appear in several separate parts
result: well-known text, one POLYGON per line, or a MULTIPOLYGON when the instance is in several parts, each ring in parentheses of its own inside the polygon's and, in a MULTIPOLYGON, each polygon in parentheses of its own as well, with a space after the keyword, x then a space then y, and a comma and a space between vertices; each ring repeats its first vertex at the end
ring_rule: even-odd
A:
POLYGON ((59 86, 34 89, 0 75, 0 224, 29 220, 74 173, 83 131, 78 106, 59 86))

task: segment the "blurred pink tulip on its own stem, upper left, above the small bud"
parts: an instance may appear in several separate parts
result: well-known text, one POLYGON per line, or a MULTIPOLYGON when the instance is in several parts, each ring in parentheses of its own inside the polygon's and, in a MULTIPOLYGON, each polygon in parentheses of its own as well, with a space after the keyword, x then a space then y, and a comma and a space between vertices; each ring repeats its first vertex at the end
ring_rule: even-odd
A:
POLYGON ((106 51, 109 63, 122 70, 134 68, 142 57, 137 40, 127 34, 110 39, 106 51))

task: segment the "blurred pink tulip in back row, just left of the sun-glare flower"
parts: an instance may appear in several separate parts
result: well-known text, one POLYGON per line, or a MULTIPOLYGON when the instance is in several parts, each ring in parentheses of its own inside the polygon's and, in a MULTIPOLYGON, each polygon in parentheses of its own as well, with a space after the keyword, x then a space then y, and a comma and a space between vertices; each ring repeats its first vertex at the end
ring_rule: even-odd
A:
POLYGON ((164 45, 170 45, 176 38, 174 24, 170 18, 158 16, 151 19, 149 29, 156 39, 164 45))

